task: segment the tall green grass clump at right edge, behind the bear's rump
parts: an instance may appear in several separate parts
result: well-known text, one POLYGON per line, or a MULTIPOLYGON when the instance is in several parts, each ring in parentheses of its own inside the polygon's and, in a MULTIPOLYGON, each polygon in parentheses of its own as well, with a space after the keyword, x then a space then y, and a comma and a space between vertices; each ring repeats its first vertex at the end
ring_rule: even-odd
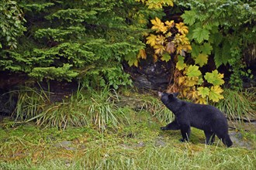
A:
POLYGON ((216 104, 230 119, 250 121, 256 117, 256 88, 243 92, 237 90, 224 90, 224 100, 216 104))

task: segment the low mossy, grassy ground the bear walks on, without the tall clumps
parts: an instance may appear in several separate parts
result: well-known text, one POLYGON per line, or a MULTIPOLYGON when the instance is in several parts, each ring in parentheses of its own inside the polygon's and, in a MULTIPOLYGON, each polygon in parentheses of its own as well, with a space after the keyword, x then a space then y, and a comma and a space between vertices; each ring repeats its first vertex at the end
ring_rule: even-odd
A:
MULTIPOLYGON (((226 148, 216 138, 205 145, 192 128, 188 143, 180 131, 161 131, 166 122, 147 110, 135 111, 129 124, 81 128, 40 128, 33 122, 0 126, 0 169, 255 169, 254 122, 229 122, 234 141, 226 148)), ((128 113, 127 113, 128 114, 128 113)), ((5 117, 5 119, 7 119, 5 117)), ((4 119, 4 121, 5 121, 4 119)))

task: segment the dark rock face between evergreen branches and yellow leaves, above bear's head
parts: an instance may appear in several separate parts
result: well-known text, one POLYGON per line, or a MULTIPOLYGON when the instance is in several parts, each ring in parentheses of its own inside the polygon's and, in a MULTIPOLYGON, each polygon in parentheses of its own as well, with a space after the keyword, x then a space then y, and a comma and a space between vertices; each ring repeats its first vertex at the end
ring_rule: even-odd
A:
POLYGON ((170 62, 157 63, 141 61, 139 67, 123 64, 126 73, 130 73, 134 86, 138 89, 166 90, 171 83, 175 66, 170 62))

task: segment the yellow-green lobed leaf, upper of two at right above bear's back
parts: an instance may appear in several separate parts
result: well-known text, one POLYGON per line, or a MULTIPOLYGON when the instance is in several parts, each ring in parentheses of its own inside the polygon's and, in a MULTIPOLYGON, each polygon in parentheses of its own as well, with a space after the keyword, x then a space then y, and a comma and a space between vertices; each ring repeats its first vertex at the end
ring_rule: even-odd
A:
POLYGON ((217 70, 213 70, 212 73, 206 73, 204 77, 207 80, 207 82, 212 83, 213 86, 220 86, 223 83, 225 83, 223 80, 224 74, 218 73, 217 70))

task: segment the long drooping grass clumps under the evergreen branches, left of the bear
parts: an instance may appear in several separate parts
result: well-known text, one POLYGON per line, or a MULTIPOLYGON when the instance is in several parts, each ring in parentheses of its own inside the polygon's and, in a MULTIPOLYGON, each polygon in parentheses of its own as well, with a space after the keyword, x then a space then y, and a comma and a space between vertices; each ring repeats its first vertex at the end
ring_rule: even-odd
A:
POLYGON ((26 87, 19 90, 16 107, 16 119, 36 121, 44 127, 67 128, 95 124, 100 129, 107 125, 117 128, 118 124, 129 123, 126 115, 115 102, 116 93, 108 88, 85 90, 78 88, 71 97, 64 97, 61 102, 50 100, 50 93, 43 89, 26 87))

